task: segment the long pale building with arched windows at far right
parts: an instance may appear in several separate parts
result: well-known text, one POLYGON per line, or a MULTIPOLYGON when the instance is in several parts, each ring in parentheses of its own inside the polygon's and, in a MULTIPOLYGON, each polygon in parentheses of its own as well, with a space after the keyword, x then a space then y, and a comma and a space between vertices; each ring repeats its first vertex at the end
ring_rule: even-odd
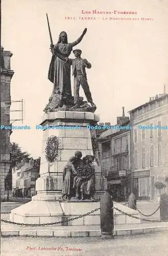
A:
POLYGON ((132 187, 137 199, 158 200, 155 182, 166 184, 168 177, 168 94, 151 97, 129 113, 132 187))

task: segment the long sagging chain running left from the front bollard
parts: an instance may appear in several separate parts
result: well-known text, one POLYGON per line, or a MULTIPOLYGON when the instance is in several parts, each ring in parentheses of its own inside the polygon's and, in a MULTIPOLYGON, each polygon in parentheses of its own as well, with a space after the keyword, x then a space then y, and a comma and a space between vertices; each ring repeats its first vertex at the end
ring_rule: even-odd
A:
POLYGON ((91 210, 91 211, 87 212, 87 214, 83 214, 83 215, 80 215, 80 216, 75 217, 75 218, 67 219, 67 220, 64 220, 64 221, 51 222, 51 223, 28 224, 28 223, 17 223, 17 222, 7 221, 7 220, 3 220, 3 219, 1 219, 1 221, 2 221, 2 222, 5 222, 5 223, 9 223, 9 224, 20 225, 20 226, 31 226, 31 227, 49 226, 49 225, 57 225, 57 224, 66 223, 66 222, 69 222, 69 221, 74 221, 74 220, 80 219, 80 218, 82 218, 82 217, 88 216, 88 215, 90 215, 90 214, 93 214, 93 212, 95 212, 95 211, 97 211, 97 210, 100 210, 100 208, 96 208, 96 209, 94 209, 94 210, 91 210))

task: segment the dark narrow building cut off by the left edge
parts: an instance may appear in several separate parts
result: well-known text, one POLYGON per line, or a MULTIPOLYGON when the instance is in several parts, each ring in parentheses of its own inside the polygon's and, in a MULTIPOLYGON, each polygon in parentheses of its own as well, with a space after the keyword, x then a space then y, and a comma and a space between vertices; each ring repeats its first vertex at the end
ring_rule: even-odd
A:
MULTIPOLYGON (((10 58, 12 53, 10 51, 4 51, 1 47, 1 125, 10 125, 10 83, 14 74, 10 68, 10 58)), ((6 197, 5 193, 5 178, 10 169, 10 130, 0 130, 1 139, 1 198, 6 197)))

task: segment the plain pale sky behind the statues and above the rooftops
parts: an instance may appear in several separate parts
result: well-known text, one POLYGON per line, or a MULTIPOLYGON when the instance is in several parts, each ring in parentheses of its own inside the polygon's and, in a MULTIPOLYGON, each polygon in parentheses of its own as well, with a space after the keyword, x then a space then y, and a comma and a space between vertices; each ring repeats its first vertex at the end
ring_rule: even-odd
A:
MULTIPOLYGON (((11 99, 25 101, 25 120, 13 125, 31 126, 31 130, 13 131, 11 142, 32 157, 40 156, 42 131, 34 127, 42 121, 53 90, 47 79, 51 52, 46 13, 54 44, 61 31, 73 42, 87 28, 75 48, 81 49, 81 57, 92 65, 86 70, 87 79, 101 122, 115 124, 122 106, 128 115, 150 97, 163 93, 163 84, 168 92, 167 0, 2 0, 2 46, 13 53, 11 99), (137 14, 119 13, 124 11, 137 14), (131 20, 116 19, 122 17, 131 20)), ((71 77, 72 91, 73 80, 71 77)), ((80 96, 86 99, 82 89, 80 96)), ((18 108, 18 103, 12 103, 11 110, 18 108)), ((11 113, 11 119, 18 115, 11 113)))

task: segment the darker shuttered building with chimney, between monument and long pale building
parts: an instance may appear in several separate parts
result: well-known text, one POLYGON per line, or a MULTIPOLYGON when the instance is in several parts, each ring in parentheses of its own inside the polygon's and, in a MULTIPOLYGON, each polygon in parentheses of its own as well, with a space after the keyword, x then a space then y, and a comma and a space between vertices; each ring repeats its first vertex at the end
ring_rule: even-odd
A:
POLYGON ((99 136, 102 173, 114 201, 126 201, 131 192, 131 147, 129 117, 117 117, 117 125, 99 136))

